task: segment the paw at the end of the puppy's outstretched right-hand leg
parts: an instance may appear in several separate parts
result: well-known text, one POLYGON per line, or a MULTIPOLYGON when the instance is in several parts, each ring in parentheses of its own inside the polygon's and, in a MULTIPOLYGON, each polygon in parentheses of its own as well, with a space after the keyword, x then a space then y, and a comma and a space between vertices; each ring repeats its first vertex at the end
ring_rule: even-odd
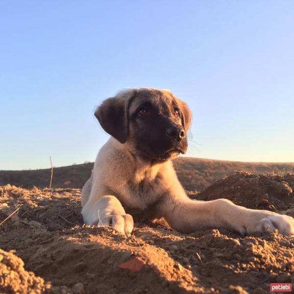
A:
POLYGON ((266 211, 251 211, 245 224, 239 227, 242 235, 272 232, 278 229, 282 235, 294 235, 294 219, 286 215, 279 215, 266 211))

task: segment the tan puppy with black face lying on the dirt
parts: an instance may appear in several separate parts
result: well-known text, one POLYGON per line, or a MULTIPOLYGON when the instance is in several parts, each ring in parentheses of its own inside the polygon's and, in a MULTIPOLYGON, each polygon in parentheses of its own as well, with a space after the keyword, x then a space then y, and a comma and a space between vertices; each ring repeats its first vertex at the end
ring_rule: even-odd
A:
POLYGON ((247 209, 227 199, 191 200, 172 167, 187 151, 191 112, 168 90, 129 89, 106 99, 95 116, 111 135, 100 149, 91 177, 82 189, 84 222, 112 225, 129 234, 134 219, 164 218, 183 233, 224 227, 246 234, 294 235, 294 219, 247 209))

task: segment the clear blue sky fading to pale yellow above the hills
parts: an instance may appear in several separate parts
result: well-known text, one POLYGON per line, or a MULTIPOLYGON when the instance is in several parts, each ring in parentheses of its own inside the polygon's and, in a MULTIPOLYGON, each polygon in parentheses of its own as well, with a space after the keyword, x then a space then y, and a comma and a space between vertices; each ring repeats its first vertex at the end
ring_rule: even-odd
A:
POLYGON ((188 103, 188 156, 294 162, 294 1, 0 1, 0 169, 94 161, 127 87, 188 103))

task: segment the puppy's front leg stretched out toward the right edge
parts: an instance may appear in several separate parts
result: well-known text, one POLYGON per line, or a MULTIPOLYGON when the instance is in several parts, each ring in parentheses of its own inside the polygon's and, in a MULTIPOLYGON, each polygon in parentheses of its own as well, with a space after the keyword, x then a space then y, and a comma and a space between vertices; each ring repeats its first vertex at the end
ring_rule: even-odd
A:
POLYGON ((204 227, 231 228, 242 235, 272 232, 294 235, 294 219, 267 210, 248 209, 228 199, 191 200, 187 196, 168 196, 161 204, 162 216, 170 226, 190 233, 204 227))

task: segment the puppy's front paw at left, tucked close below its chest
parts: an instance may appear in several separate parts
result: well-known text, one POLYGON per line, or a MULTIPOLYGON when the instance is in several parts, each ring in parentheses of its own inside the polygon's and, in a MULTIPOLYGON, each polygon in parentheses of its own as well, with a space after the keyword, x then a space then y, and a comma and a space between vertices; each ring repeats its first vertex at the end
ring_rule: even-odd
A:
POLYGON ((117 232, 124 235, 129 235, 134 229, 133 217, 129 214, 104 216, 99 220, 98 225, 111 225, 117 232))

